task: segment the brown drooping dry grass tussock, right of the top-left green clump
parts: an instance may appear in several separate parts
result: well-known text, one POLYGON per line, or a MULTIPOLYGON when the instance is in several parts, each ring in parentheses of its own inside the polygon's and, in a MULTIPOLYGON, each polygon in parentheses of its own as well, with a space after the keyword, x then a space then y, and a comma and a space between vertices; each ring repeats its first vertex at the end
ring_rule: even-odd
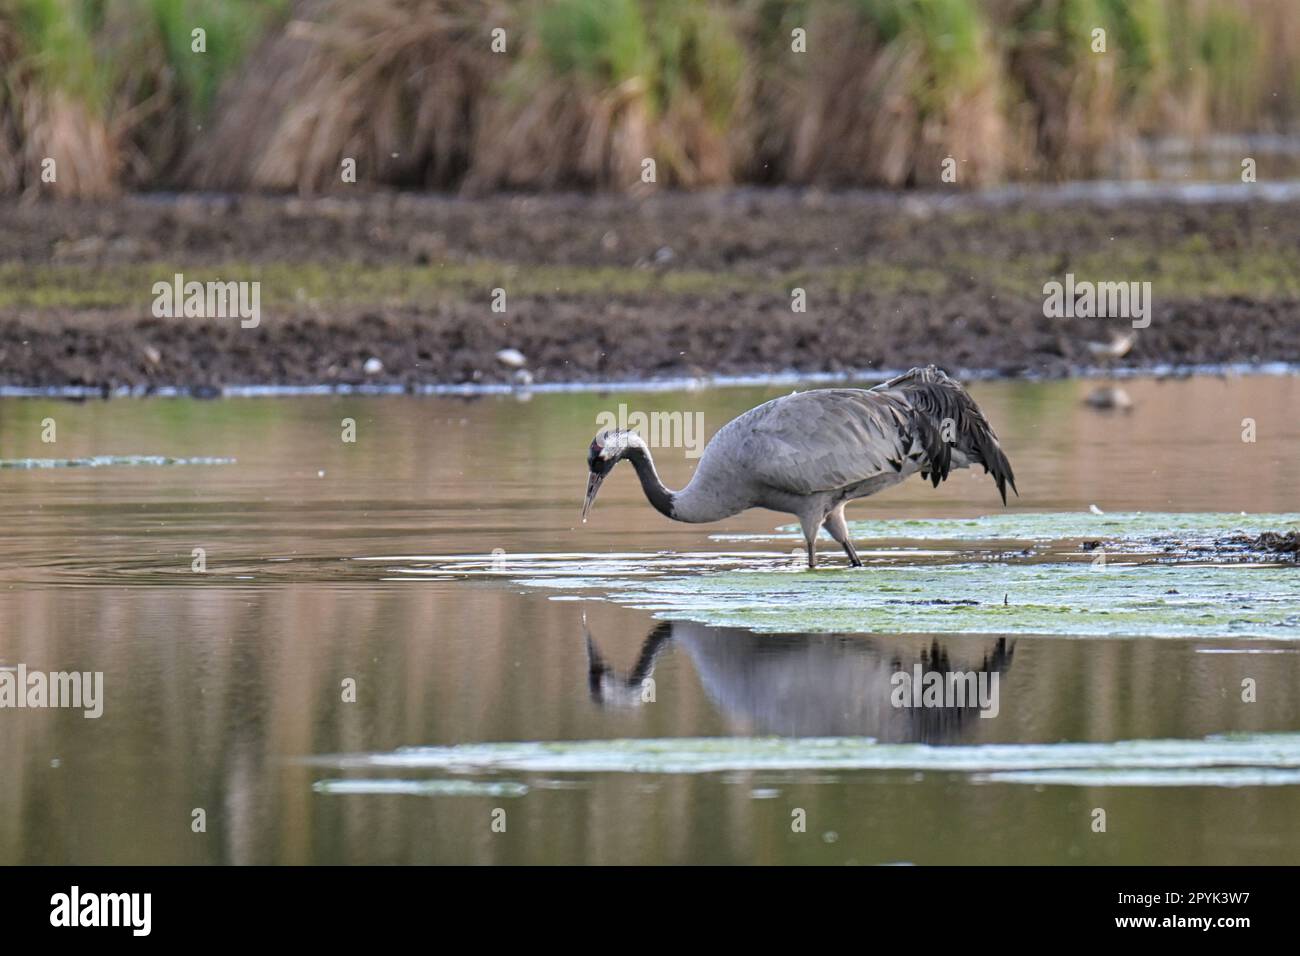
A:
MULTIPOLYGON (((202 187, 322 191, 358 181, 445 189, 469 165, 499 4, 312 4, 255 56, 187 164, 202 187)), ((498 68, 499 69, 499 68, 498 68)))

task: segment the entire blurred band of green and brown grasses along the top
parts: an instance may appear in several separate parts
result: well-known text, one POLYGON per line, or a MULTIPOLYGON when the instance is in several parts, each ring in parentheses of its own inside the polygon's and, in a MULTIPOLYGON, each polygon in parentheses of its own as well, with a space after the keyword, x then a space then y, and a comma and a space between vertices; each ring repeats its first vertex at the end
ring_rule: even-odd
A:
POLYGON ((1294 0, 0 0, 0 194, 974 186, 1297 107, 1294 0))

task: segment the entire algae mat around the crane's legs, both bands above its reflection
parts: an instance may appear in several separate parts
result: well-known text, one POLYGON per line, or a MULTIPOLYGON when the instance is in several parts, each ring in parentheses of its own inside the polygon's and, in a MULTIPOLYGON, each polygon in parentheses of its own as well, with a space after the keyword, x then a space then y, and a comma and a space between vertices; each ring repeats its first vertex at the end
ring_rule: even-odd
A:
MULTIPOLYGON (((861 549, 846 568, 807 571, 784 550, 382 555, 384 580, 506 578, 604 598, 667 619, 764 632, 997 633, 1066 637, 1300 637, 1294 559, 1228 554, 1225 536, 1300 523, 1297 514, 1017 514, 859 524, 866 538, 1084 542, 1015 554, 861 549), (1153 535, 1165 537, 1157 538, 1153 535), (1180 542, 1152 554, 1153 541, 1180 542), (1100 544, 1088 548, 1092 541, 1100 544), (1128 542, 1128 546, 1115 545, 1128 542), (1204 545, 1190 541, 1208 542, 1204 545), (1218 544, 1217 544, 1218 542, 1218 544), (1166 549, 1167 550, 1167 549, 1166 549), (874 559, 879 555, 881 559, 874 559), (1144 557, 1139 557, 1144 555, 1144 557), (945 557, 948 558, 945 561, 945 557), (1023 558, 1023 559, 1022 559, 1023 558), (1257 562, 1257 563, 1249 563, 1257 562)), ((755 536, 762 540, 760 536, 755 536)), ((772 536, 766 536, 771 540, 772 536)))

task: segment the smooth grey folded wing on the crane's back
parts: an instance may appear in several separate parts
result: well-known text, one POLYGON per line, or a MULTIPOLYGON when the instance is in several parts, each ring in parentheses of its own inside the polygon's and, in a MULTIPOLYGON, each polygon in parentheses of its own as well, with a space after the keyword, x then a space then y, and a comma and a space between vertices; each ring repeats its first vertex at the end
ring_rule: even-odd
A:
MULTIPOLYGON (((741 415, 729 442, 762 484, 812 494, 898 472, 911 450, 904 412, 862 389, 819 389, 777 398, 741 415)), ((731 427, 729 427, 731 428, 731 427)))

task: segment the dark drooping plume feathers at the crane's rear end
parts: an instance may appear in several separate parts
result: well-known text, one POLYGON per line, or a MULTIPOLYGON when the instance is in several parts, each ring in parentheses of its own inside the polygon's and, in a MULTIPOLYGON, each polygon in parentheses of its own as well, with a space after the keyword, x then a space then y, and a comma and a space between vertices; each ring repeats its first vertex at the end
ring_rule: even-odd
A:
POLYGON ((993 476, 1004 505, 1008 485, 1019 497, 1015 473, 1002 446, 997 444, 993 427, 961 382, 949 378, 941 369, 927 365, 890 378, 876 389, 900 392, 906 397, 911 425, 928 462, 928 468, 920 472, 922 477, 928 477, 937 488, 952 470, 956 447, 970 462, 983 464, 985 475, 993 476))

